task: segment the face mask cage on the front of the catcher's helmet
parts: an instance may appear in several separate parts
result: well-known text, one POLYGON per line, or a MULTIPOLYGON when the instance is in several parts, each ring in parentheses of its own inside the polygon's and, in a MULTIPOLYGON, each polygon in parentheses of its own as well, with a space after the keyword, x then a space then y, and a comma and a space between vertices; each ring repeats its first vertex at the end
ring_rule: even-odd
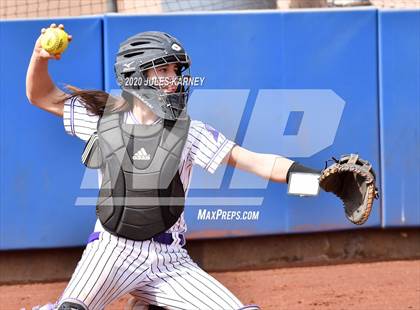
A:
MULTIPOLYGON (((190 93, 190 59, 186 54, 172 54, 151 60, 140 66, 139 79, 141 84, 131 87, 140 100, 148 105, 155 113, 165 119, 176 120, 187 117, 187 101, 190 93), (159 67, 178 65, 175 78, 159 78, 159 67), (154 77, 147 78, 146 71, 154 71, 154 77), (167 88, 171 86, 172 90, 167 88)), ((133 75, 134 76, 134 75, 133 75)), ((132 76, 132 77, 133 77, 132 76)))

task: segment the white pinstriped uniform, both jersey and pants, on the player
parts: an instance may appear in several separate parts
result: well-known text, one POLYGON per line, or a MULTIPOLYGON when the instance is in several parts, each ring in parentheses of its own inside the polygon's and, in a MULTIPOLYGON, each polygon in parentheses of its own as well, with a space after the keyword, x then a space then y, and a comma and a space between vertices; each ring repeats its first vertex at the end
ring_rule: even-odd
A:
MULTIPOLYGON (((65 103, 64 126, 69 134, 87 140, 97 121, 77 98, 65 103)), ((125 122, 135 124, 136 119, 128 112, 125 122)), ((212 127, 192 121, 179 165, 186 192, 192 166, 197 164, 213 173, 233 145, 212 127)), ((149 309, 148 305, 184 310, 259 309, 244 307, 223 284, 194 263, 179 238, 170 242, 134 241, 96 226, 61 297, 55 304, 35 309, 103 310, 127 293, 136 297, 135 310, 149 309)), ((186 231, 183 216, 170 231, 172 236, 186 231)))

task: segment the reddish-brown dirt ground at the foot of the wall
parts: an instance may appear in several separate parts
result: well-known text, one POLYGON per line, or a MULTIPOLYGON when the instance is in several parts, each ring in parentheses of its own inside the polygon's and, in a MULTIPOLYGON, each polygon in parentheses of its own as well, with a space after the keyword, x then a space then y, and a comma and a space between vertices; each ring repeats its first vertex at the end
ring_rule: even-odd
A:
MULTIPOLYGON (((212 275, 262 309, 419 309, 420 260, 296 267, 212 275)), ((54 301, 65 282, 0 286, 0 309, 54 301)), ((107 309, 124 309, 128 297, 107 309)))

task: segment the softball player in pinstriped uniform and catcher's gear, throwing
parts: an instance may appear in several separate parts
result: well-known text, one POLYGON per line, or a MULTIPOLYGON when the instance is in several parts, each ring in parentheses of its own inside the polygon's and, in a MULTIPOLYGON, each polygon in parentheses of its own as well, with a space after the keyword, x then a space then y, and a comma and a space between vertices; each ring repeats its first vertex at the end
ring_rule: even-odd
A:
MULTIPOLYGON (((63 28, 62 25, 59 27, 63 28)), ((166 33, 140 33, 120 45, 115 71, 123 90, 122 98, 112 98, 102 91, 75 88, 71 88, 71 95, 64 93, 55 86, 48 74, 48 60, 53 58, 60 59, 60 55, 48 54, 41 48, 38 39, 27 72, 27 96, 33 105, 62 117, 68 134, 89 141, 83 154, 87 166, 95 166, 95 160, 96 165, 100 166, 94 153, 98 149, 95 145, 100 146, 100 143, 95 143, 100 139, 93 139, 95 134, 105 136, 111 131, 121 133, 121 128, 127 126, 131 126, 134 131, 138 128, 147 131, 156 126, 166 130, 168 121, 183 120, 179 128, 184 128, 186 134, 174 138, 173 145, 183 147, 178 147, 179 150, 176 151, 175 146, 171 150, 179 158, 178 161, 173 161, 176 166, 170 183, 172 194, 175 193, 176 198, 181 201, 188 193, 194 165, 214 173, 219 165, 228 163, 275 182, 285 182, 292 170, 303 169, 303 166, 287 158, 246 150, 208 124, 189 120, 186 114, 188 87, 161 82, 152 86, 127 85, 127 77, 152 81, 156 81, 156 78, 169 78, 173 81, 189 69, 190 59, 181 43, 166 33), (105 116, 106 111, 113 113, 105 116), (115 115, 118 116, 112 120, 115 115), (120 125, 111 126, 112 130, 109 130, 108 125, 115 120, 120 125)), ((154 149, 148 148, 144 138, 141 141, 146 146, 136 149, 138 141, 132 139, 134 142, 129 140, 134 143, 130 153, 133 159, 130 161, 131 165, 141 166, 153 162, 156 157, 153 152, 158 152, 156 149, 162 143, 159 142, 161 144, 154 149)), ((114 138, 111 140, 108 155, 114 156, 118 150, 117 146, 110 146, 115 143, 114 138)), ((153 141, 149 144, 153 144, 153 141)), ((126 148, 128 149, 127 145, 126 148)), ((105 151, 102 149, 102 152, 105 151)), ((165 167, 170 166, 168 161, 165 163, 165 167)), ((146 169, 145 166, 143 168, 146 169)), ((135 180, 143 182, 151 179, 144 178, 141 169, 136 169, 140 172, 138 176, 132 177, 133 184, 135 180)), ((119 171, 122 170, 120 168, 119 171)), ((167 216, 162 215, 163 219, 155 220, 156 213, 150 211, 154 210, 152 207, 122 208, 115 201, 111 206, 102 205, 103 201, 113 197, 112 191, 107 191, 105 186, 107 178, 112 179, 112 173, 107 175, 104 170, 101 171, 102 187, 97 206, 99 219, 94 232, 90 235, 86 249, 61 297, 55 304, 45 305, 41 309, 103 309, 127 293, 135 297, 131 302, 134 309, 147 309, 147 305, 166 309, 259 309, 256 305, 244 306, 189 257, 183 248, 187 231, 183 206, 167 216), (114 215, 109 214, 109 210, 121 208, 131 217, 123 212, 120 214, 123 219, 115 220, 114 215), (146 222, 141 226, 138 222, 144 222, 145 218, 150 218, 151 224, 146 222), (114 220, 117 224, 113 226, 110 222, 114 220)), ((130 184, 124 186, 128 187, 130 184)), ((132 192, 127 190, 125 197, 129 195, 132 192)))

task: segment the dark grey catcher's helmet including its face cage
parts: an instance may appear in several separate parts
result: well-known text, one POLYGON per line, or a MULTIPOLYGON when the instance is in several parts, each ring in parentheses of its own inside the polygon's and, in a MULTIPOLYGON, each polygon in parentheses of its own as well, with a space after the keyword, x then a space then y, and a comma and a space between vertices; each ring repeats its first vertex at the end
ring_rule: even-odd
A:
POLYGON ((138 33, 120 44, 114 65, 117 83, 144 102, 153 112, 165 119, 176 120, 186 116, 189 86, 184 86, 182 74, 191 65, 181 43, 171 35, 148 31, 138 33), (146 70, 178 64, 177 89, 166 93, 159 86, 147 82, 146 70))

